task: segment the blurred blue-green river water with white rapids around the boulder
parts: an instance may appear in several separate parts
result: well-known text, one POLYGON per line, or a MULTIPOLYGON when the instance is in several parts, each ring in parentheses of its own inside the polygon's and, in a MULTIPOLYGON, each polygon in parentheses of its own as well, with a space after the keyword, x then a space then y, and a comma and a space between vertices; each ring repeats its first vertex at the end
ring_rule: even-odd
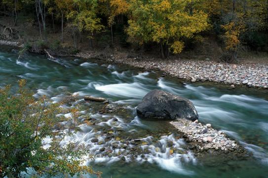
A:
POLYGON ((0 87, 26 79, 36 97, 45 94, 55 102, 64 89, 78 93, 82 114, 91 114, 92 120, 81 120, 75 138, 91 145, 96 157, 85 164, 103 172, 103 178, 268 178, 268 90, 183 84, 154 72, 77 58, 52 61, 28 54, 17 60, 17 52, 0 47, 0 87), (255 159, 196 159, 168 122, 142 120, 136 115, 135 107, 152 89, 189 98, 200 122, 244 144, 255 159), (85 102, 84 95, 108 98, 110 104, 85 102), (100 114, 104 106, 113 112, 100 114))

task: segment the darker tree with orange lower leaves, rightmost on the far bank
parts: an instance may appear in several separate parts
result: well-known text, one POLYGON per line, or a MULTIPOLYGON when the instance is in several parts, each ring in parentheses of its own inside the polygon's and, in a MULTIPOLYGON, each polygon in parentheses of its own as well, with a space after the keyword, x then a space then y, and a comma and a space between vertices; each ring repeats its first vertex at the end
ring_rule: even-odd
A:
POLYGON ((203 6, 225 48, 231 52, 231 60, 236 60, 239 49, 247 45, 247 36, 267 30, 267 0, 205 0, 203 6))

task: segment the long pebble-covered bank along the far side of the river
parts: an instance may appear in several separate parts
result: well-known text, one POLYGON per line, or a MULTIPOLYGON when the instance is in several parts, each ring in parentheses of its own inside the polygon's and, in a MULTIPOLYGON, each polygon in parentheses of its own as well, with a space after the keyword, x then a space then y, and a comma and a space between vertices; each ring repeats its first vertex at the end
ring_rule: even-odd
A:
POLYGON ((115 58, 110 61, 159 70, 174 78, 188 82, 214 82, 217 84, 249 88, 268 89, 268 60, 266 64, 229 64, 207 60, 153 60, 137 58, 115 58))

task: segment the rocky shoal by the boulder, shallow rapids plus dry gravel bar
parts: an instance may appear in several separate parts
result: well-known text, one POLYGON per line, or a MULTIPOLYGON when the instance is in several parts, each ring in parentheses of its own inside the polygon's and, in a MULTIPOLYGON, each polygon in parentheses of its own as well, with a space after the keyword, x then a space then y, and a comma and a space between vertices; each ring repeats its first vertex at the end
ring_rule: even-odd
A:
POLYGON ((129 117, 134 110, 116 103, 96 103, 91 108, 92 119, 83 123, 92 128, 86 140, 96 159, 144 162, 159 157, 194 161, 194 157, 205 155, 228 156, 229 159, 246 159, 250 155, 224 132, 197 120, 155 121, 157 125, 161 122, 161 130, 135 127, 129 130, 130 125, 142 125, 137 117, 134 120, 129 117), (117 116, 113 117, 115 113, 117 116))

